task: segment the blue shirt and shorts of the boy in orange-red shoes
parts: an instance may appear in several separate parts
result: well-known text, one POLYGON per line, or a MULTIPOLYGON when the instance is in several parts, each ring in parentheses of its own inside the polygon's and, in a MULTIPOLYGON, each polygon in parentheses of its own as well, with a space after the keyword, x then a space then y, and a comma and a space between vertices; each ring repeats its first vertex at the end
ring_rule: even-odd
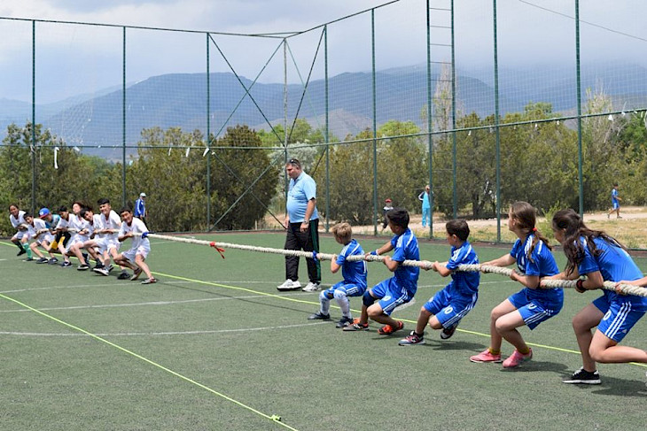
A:
MULTIPOLYGON (((395 235, 391 239, 391 245, 394 247, 392 260, 396 262, 420 260, 417 238, 416 235, 413 235, 411 229, 407 228, 401 235, 395 235)), ((393 277, 379 282, 370 289, 370 296, 378 298, 382 311, 390 315, 395 307, 408 303, 416 295, 419 274, 420 268, 417 266, 398 266, 393 277)), ((366 296, 364 295, 364 298, 366 296)))

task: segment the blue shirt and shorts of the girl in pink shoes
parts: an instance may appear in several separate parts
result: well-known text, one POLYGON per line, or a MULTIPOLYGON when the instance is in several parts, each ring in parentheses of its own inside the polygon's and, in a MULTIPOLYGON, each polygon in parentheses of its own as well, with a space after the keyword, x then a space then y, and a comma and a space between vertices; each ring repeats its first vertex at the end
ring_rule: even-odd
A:
MULTIPOLYGON (((526 237, 526 241, 517 240, 510 254, 517 260, 518 270, 526 275, 546 277, 559 273, 555 258, 542 241, 538 241, 528 258, 528 250, 533 244, 534 234, 526 237)), ((550 319, 562 310, 564 291, 562 289, 530 289, 524 288, 508 297, 508 300, 521 313, 526 326, 534 329, 546 319, 550 319)))

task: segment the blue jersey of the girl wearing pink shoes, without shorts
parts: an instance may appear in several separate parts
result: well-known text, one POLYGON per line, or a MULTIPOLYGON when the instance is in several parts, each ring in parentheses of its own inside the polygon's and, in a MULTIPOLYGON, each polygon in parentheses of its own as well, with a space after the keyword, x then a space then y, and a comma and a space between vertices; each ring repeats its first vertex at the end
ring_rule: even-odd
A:
MULTIPOLYGON (((542 241, 538 241, 534 250, 528 258, 528 250, 533 245, 534 234, 526 236, 526 241, 517 240, 512 246, 510 254, 517 260, 517 267, 520 273, 526 275, 538 275, 546 277, 559 273, 557 262, 549 248, 542 241)), ((564 303, 564 291, 559 288, 553 289, 529 289, 526 288, 526 297, 530 300, 537 299, 542 301, 545 308, 557 309, 562 308, 564 303)))

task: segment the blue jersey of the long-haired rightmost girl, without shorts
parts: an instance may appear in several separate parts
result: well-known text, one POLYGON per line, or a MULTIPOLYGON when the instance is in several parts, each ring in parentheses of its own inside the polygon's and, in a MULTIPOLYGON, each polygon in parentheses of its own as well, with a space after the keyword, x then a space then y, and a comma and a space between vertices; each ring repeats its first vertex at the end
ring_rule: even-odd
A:
MULTIPOLYGON (((593 242, 596 244, 597 250, 601 252, 598 256, 593 256, 587 247, 587 239, 582 236, 580 242, 584 248, 584 258, 577 266, 580 275, 599 271, 602 273, 604 281, 634 281, 643 278, 643 273, 635 265, 634 259, 629 256, 627 251, 604 241, 602 238, 595 238, 593 242)), ((619 295, 604 289, 604 296, 611 300, 619 295)), ((647 305, 647 297, 635 295, 622 297, 628 298, 632 304, 647 305)))

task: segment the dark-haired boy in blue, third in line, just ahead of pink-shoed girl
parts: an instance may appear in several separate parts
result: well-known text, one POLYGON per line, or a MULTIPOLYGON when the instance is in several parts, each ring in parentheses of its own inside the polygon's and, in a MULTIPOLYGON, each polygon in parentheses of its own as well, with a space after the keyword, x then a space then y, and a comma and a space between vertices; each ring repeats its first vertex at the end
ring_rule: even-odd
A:
POLYGON ((447 340, 454 335, 460 323, 479 298, 480 273, 457 272, 459 265, 478 265, 479 257, 467 241, 470 227, 462 219, 449 220, 445 225, 447 242, 451 245, 451 258, 439 264, 433 262, 432 269, 442 277, 451 275, 452 281, 426 302, 420 309, 416 329, 401 340, 401 346, 425 343, 425 327, 442 329, 440 338, 447 340))

